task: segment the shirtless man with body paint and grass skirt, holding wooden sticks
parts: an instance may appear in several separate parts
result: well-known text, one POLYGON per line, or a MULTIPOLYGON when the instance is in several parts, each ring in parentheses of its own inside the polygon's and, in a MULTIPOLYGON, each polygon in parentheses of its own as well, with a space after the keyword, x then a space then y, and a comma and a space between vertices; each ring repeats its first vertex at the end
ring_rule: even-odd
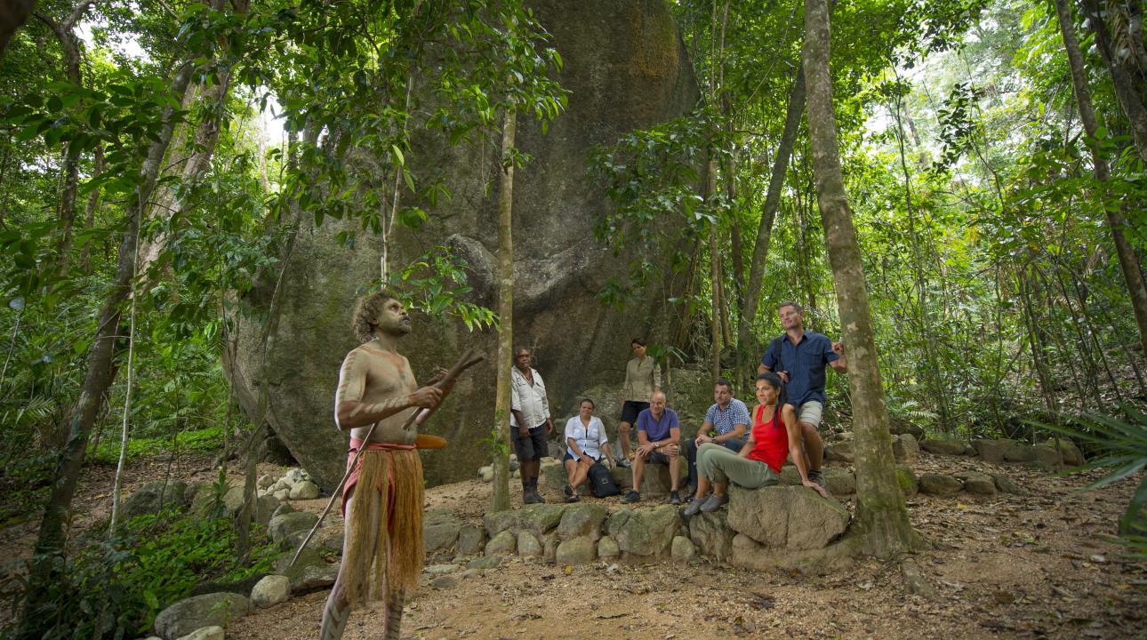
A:
POLYGON ((406 593, 418 586, 423 561, 420 438, 416 424, 404 424, 412 408, 437 408, 448 388, 434 387, 445 372, 424 387, 414 381, 397 350, 411 333, 411 317, 393 295, 359 299, 352 325, 364 344, 346 354, 338 372, 335 423, 351 432, 350 460, 359 447, 365 451, 343 490, 343 560, 319 638, 342 638, 351 607, 382 600, 382 637, 397 640, 406 593))

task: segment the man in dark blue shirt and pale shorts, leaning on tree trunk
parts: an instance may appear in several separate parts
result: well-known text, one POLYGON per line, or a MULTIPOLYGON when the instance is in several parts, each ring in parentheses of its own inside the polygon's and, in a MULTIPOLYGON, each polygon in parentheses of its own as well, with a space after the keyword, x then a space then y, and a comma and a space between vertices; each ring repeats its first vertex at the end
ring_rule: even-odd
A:
POLYGON ((781 416, 786 423, 801 423, 802 452, 809 479, 824 486, 820 463, 825 455, 825 443, 817 427, 825 411, 825 365, 832 365, 836 373, 845 373, 848 361, 844 345, 832 342, 824 334, 804 330, 804 307, 795 302, 783 302, 777 307, 785 335, 773 339, 760 358, 757 373, 775 372, 785 381, 786 401, 781 416))

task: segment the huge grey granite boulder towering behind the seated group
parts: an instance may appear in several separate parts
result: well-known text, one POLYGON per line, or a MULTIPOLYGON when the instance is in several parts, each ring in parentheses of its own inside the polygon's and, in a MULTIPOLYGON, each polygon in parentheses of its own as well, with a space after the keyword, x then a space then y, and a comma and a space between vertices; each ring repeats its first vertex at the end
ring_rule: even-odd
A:
MULTIPOLYGON (((619 387, 630 338, 663 341, 674 322, 672 314, 618 313, 601 305, 598 291, 610 278, 626 278, 630 256, 614 256, 594 239, 595 217, 612 203, 606 189, 586 179, 586 159, 596 145, 692 110, 699 92, 664 0, 531 0, 529 6, 564 60, 556 79, 570 93, 548 132, 525 114, 517 123, 516 146, 532 161, 514 179, 514 336, 533 348, 535 366, 560 414, 593 384, 612 378, 619 387)), ((423 71, 413 111, 431 114, 428 102, 439 78, 432 68, 423 71)), ((389 262, 401 268, 429 248, 448 245, 466 264, 473 287, 468 301, 497 309, 500 149, 483 134, 475 135, 481 143, 451 146, 418 118, 411 131, 406 167, 421 187, 440 179, 451 197, 430 202, 403 195, 404 205, 420 206, 428 219, 416 232, 395 229, 389 262)), ((379 181, 382 166, 389 166, 389 158, 349 162, 360 167, 364 182, 379 181)), ((266 390, 267 422, 319 486, 331 491, 346 451, 346 435, 331 426, 331 399, 340 364, 356 345, 350 330, 356 294, 379 278, 381 241, 357 219, 328 219, 318 228, 310 217, 304 220, 282 264, 281 284, 279 270, 267 270, 244 295, 252 313, 239 322, 234 367, 224 369, 249 415, 257 413, 260 389, 266 390), (345 232, 357 234, 356 242, 341 242, 337 236, 345 232), (253 319, 267 311, 272 297, 281 315, 264 360, 262 327, 253 319)), ((655 268, 669 272, 668 258, 651 259, 655 268)), ((664 287, 661 279, 653 282, 645 291, 649 298, 664 287)), ((483 438, 493 419, 496 369, 510 364, 497 361, 496 331, 470 333, 458 319, 415 314, 414 331, 400 348, 424 380, 470 346, 486 360, 460 378, 424 426, 450 440, 446 448, 423 454, 431 485, 470 477, 489 460, 483 438)))

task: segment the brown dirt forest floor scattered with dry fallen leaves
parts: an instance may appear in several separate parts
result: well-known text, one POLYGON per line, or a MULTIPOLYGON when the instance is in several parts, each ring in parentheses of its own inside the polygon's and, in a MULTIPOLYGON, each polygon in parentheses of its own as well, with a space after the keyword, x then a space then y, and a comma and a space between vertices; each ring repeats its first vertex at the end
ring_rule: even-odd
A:
MULTIPOLYGON (((195 467, 185 462, 175 477, 211 478, 212 471, 195 467)), ((913 468, 918 475, 1002 471, 1027 490, 910 499, 913 525, 936 547, 912 559, 934 598, 907 593, 899 561, 859 559, 813 575, 750 571, 703 559, 555 567, 513 557, 478 575, 454 573, 443 588, 424 576, 407 604, 403 638, 1147 638, 1147 563, 1124 559, 1110 541, 1138 477, 1080 492, 1099 474, 1059 477, 927 453, 913 468)), ((141 463, 128 489, 165 470, 141 463)), ((282 470, 260 466, 260 474, 282 470)), ((477 524, 490 487, 479 481, 437 486, 427 491, 427 507, 477 524)), ((85 471, 76 524, 106 517, 109 493, 110 474, 85 471)), ((552 490, 543 494, 548 501, 561 498, 552 490)), ((515 498, 516 507, 521 498, 515 498)), ((602 502, 621 507, 617 498, 602 502)), ((294 506, 318 513, 325 504, 294 506)), ((0 532, 0 545, 26 553, 34 534, 30 524, 0 532)), ((427 564, 465 568, 468 560, 440 556, 427 564)), ((255 611, 228 625, 227 638, 315 638, 327 593, 255 611)), ((376 638, 381 630, 376 606, 351 615, 345 638, 376 638)))

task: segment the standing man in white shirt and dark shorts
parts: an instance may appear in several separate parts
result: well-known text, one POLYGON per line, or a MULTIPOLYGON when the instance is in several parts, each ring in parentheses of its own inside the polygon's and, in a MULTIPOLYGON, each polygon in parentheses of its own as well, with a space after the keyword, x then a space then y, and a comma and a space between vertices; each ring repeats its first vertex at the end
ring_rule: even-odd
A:
POLYGON ((533 361, 530 350, 514 349, 514 368, 510 369, 512 403, 510 428, 516 430, 514 451, 517 453, 518 469, 522 471, 522 504, 545 502, 538 493, 538 473, 541 456, 549 453, 546 436, 554 430, 549 419, 549 400, 541 374, 530 367, 533 361))

